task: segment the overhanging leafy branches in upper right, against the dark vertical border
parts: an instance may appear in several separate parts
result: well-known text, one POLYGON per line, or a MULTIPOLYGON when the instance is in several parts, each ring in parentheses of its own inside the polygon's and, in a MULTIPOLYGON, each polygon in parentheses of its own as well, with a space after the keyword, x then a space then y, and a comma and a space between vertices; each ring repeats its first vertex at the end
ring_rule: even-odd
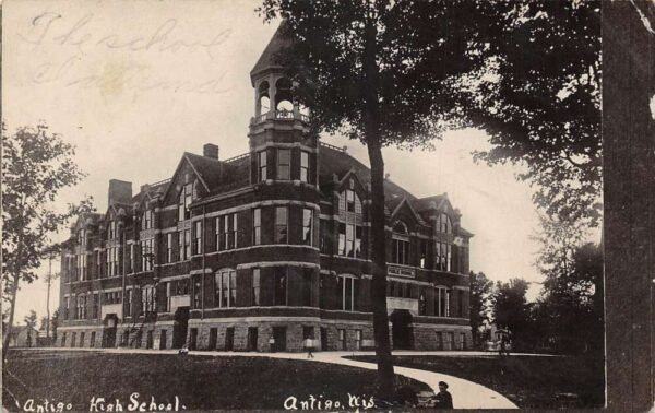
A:
POLYGON ((473 126, 492 149, 476 157, 521 164, 549 215, 600 219, 600 1, 514 2, 468 83, 473 126), (516 19, 516 17, 520 19, 516 19))

